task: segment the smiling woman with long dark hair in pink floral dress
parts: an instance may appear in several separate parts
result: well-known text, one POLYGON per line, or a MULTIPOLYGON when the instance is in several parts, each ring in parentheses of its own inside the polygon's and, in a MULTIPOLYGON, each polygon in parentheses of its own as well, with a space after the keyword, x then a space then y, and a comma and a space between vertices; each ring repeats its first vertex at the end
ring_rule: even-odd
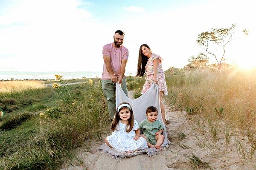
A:
POLYGON ((136 76, 143 76, 144 74, 146 74, 146 81, 141 91, 141 94, 144 94, 146 91, 148 91, 148 89, 154 82, 158 84, 162 118, 164 124, 166 124, 162 96, 167 95, 168 91, 165 81, 165 75, 161 65, 162 61, 163 59, 160 56, 151 52, 151 49, 148 45, 140 45, 138 69, 136 76))

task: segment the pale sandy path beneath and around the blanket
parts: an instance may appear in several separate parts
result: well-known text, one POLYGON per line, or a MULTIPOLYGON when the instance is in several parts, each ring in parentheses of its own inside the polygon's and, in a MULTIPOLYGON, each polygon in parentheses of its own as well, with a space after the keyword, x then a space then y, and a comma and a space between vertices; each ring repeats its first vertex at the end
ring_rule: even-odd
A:
MULTIPOLYGON (((132 97, 129 91, 128 97, 132 97)), ((166 119, 170 120, 166 125, 168 138, 171 144, 168 148, 152 157, 146 154, 117 161, 111 156, 96 151, 102 142, 91 142, 90 152, 86 148, 78 148, 76 160, 71 164, 64 164, 63 170, 193 170, 193 169, 214 169, 214 170, 256 170, 256 159, 242 159, 236 151, 236 142, 231 138, 230 145, 224 149, 224 136, 219 136, 219 140, 211 140, 207 127, 198 128, 198 123, 189 118, 185 112, 170 111, 165 104, 166 119), (186 137, 180 137, 180 132, 186 137), (204 134, 202 133, 204 132, 204 134), (185 149, 183 147, 185 146, 185 149), (209 167, 196 167, 189 157, 192 153, 202 161, 208 163, 209 167)), ((200 127, 200 126, 199 126, 200 127)), ((102 136, 104 139, 105 134, 102 136)))

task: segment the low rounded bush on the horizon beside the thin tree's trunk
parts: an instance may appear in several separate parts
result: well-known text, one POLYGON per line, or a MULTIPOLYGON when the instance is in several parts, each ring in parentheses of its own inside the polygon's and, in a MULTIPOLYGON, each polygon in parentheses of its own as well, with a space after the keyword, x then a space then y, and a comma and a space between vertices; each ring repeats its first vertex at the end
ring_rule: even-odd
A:
POLYGON ((191 56, 188 62, 189 64, 187 64, 187 66, 189 68, 202 68, 207 66, 209 58, 204 53, 200 53, 196 57, 191 56))

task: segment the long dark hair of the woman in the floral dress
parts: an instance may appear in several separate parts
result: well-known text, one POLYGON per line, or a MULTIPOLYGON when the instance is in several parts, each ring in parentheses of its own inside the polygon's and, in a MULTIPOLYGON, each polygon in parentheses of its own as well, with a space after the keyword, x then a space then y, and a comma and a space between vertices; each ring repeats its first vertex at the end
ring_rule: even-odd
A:
POLYGON ((146 66, 146 64, 148 62, 148 57, 145 56, 144 54, 142 54, 142 51, 141 51, 141 48, 143 46, 148 48, 150 50, 150 52, 151 52, 151 49, 149 48, 148 45, 146 45, 146 44, 140 45, 139 58, 138 58, 138 69, 137 69, 137 75, 136 75, 137 77, 138 76, 144 76, 144 74, 145 74, 145 66, 146 66))

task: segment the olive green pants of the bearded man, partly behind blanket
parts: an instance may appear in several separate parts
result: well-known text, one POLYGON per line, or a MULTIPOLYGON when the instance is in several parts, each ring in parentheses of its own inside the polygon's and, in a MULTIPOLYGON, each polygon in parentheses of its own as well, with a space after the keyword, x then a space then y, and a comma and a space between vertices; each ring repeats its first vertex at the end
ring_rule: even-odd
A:
MULTIPOLYGON (((110 118, 113 120, 113 117, 116 112, 116 83, 112 82, 111 79, 101 80, 102 90, 105 95, 105 98, 108 101, 108 112, 110 118)), ((122 79, 121 84, 122 90, 125 92, 126 96, 127 92, 127 83, 125 77, 122 79)))

